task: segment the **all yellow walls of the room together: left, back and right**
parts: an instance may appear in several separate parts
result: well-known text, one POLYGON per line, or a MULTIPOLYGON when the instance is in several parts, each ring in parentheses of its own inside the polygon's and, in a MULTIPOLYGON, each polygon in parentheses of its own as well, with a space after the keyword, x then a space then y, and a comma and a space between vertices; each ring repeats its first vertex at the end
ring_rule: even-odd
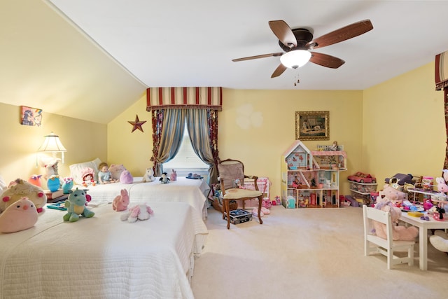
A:
MULTIPOLYGON (((350 193, 346 176, 358 171, 377 176, 379 188, 398 172, 440 176, 446 133, 443 92, 434 85, 430 63, 364 91, 223 89, 220 157, 242 160, 248 174, 268 176, 273 198, 280 195, 281 154, 295 141, 295 111, 330 111, 330 140, 304 144, 311 150, 335 140, 344 145, 348 171, 342 172, 342 194, 350 193)), ((59 167, 62 176, 69 175, 68 165, 97 157, 125 165, 134 176, 153 165, 145 95, 108 125, 44 111, 43 127, 28 127, 19 123, 19 106, 0 104, 0 109, 0 136, 5 141, 0 171, 7 181, 43 172, 34 167, 35 151, 50 131, 59 134, 67 148, 66 162, 59 167), (144 132, 131 132, 127 123, 137 114, 146 120, 144 132)))

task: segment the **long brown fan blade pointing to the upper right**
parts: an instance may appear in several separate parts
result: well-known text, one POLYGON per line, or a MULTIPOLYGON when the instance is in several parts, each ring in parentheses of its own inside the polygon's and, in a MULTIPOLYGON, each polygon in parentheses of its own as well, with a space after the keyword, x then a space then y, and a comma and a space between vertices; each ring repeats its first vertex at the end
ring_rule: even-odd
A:
POLYGON ((363 20, 318 37, 317 39, 307 43, 306 46, 314 49, 330 46, 334 43, 346 41, 347 39, 351 39, 355 36, 365 34, 365 32, 372 29, 372 22, 370 22, 370 20, 363 20))

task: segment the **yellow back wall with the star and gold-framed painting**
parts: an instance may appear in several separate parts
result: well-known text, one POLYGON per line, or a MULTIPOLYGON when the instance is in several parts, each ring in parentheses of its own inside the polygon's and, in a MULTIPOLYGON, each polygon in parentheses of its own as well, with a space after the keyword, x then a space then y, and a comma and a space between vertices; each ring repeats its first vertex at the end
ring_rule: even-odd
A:
MULTIPOLYGON (((268 176, 272 198, 280 195, 280 158, 295 141, 295 111, 330 111, 330 140, 304 141, 310 149, 317 144, 344 144, 349 171, 342 173, 342 194, 349 193, 346 176, 361 164, 362 91, 310 90, 223 90, 223 111, 218 113, 218 148, 222 160, 244 162, 247 174, 268 176), (261 121, 260 117, 262 118, 261 121), (248 121, 250 119, 252 121, 248 121), (239 123, 248 123, 248 127, 239 123)), ((109 162, 120 162, 134 176, 143 175, 150 162, 151 114, 146 97, 124 111, 108 125, 109 162), (144 133, 131 133, 128 120, 148 120, 144 133)))

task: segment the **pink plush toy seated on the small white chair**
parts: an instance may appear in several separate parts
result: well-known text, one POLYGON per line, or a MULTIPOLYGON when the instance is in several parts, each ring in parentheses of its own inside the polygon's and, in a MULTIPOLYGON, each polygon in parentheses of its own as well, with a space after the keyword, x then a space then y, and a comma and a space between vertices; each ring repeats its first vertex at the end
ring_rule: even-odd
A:
MULTIPOLYGON (((394 186, 386 184, 384 190, 377 197, 377 203, 375 204, 375 209, 391 213, 392 222, 397 222, 401 216, 401 209, 397 207, 396 203, 405 198, 405 193, 400 188, 398 185, 394 188, 394 186), (381 194, 384 197, 381 197, 381 194)), ((373 221, 373 228, 378 237, 387 239, 385 224, 373 221)), ((414 241, 417 235, 419 235, 419 230, 414 226, 407 228, 405 225, 393 225, 392 239, 394 241, 414 241)))

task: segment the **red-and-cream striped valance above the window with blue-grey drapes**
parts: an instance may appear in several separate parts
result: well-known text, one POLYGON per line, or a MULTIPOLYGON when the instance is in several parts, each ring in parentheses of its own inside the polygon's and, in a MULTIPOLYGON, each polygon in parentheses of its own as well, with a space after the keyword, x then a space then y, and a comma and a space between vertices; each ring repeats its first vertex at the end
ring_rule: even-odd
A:
POLYGON ((148 88, 146 111, 164 108, 214 109, 221 111, 223 88, 148 88))

